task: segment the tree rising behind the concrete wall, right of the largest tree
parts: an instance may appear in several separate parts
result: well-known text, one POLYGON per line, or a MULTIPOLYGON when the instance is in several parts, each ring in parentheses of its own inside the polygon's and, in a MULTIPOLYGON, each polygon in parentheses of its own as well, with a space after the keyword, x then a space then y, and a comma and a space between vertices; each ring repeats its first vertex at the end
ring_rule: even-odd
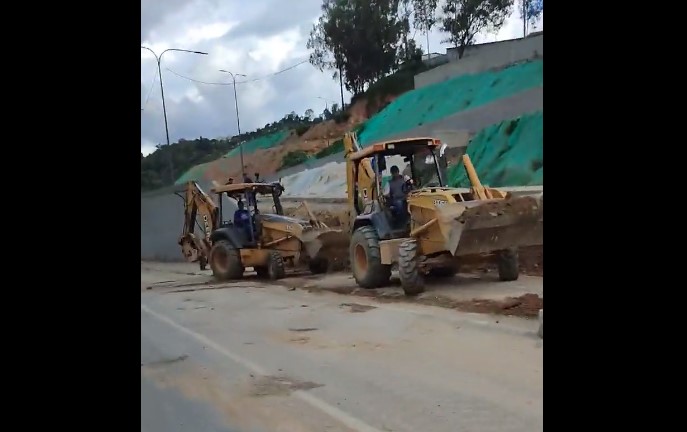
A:
POLYGON ((449 34, 444 42, 458 48, 458 58, 463 58, 465 48, 475 42, 475 36, 491 28, 503 26, 511 13, 514 0, 446 0, 441 19, 442 31, 449 34))

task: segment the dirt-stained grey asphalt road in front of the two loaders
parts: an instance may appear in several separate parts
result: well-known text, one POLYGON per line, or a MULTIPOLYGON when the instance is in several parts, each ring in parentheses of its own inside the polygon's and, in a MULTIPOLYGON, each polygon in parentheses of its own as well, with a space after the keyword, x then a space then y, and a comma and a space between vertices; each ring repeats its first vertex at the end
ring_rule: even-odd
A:
POLYGON ((536 321, 141 272, 141 431, 543 430, 536 321))

